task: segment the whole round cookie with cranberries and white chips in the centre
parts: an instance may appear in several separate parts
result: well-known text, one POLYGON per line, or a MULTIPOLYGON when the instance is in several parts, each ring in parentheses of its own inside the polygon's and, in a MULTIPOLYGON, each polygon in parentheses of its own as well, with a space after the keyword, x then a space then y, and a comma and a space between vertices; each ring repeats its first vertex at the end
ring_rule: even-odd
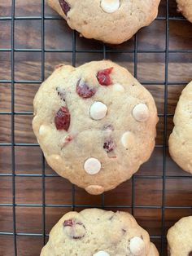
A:
POLYGON ((154 99, 109 60, 61 65, 38 90, 34 114, 48 164, 91 194, 129 179, 155 146, 154 99))

